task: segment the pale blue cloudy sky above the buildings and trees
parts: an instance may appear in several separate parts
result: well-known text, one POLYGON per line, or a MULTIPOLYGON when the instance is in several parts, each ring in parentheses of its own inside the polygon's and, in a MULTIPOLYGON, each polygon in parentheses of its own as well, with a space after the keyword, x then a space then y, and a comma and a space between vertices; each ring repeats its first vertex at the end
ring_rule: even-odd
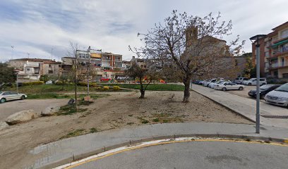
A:
POLYGON ((128 45, 143 46, 138 32, 162 23, 173 10, 200 17, 220 12, 221 20, 233 24, 224 40, 240 35, 250 52, 249 37, 287 22, 287 6, 287 0, 0 0, 0 62, 28 56, 59 61, 69 42, 130 60, 128 45))

